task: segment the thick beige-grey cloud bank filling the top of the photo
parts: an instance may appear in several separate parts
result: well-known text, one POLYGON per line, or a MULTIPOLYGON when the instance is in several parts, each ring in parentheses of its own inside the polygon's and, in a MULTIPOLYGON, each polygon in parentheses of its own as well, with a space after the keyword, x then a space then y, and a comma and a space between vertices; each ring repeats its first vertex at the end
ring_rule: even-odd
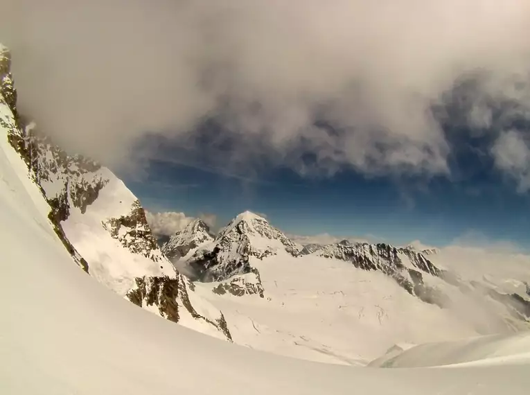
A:
MULTIPOLYGON (((3 1, 21 109, 111 165, 148 133, 194 152, 214 119, 229 168, 448 174, 432 109, 466 79, 462 133, 495 129, 506 98, 530 119, 527 0, 3 1)), ((527 154, 506 163, 498 138, 489 154, 528 188, 527 154)))

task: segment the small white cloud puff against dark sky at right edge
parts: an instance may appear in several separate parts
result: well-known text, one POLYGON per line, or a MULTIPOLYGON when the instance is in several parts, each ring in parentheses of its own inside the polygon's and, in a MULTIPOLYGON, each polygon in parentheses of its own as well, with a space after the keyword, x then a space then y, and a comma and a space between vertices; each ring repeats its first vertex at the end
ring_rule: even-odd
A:
MULTIPOLYGON (((527 132, 528 133, 528 132, 527 132)), ((518 182, 518 190, 530 189, 530 147, 522 132, 500 134, 492 149, 495 166, 518 182)))

